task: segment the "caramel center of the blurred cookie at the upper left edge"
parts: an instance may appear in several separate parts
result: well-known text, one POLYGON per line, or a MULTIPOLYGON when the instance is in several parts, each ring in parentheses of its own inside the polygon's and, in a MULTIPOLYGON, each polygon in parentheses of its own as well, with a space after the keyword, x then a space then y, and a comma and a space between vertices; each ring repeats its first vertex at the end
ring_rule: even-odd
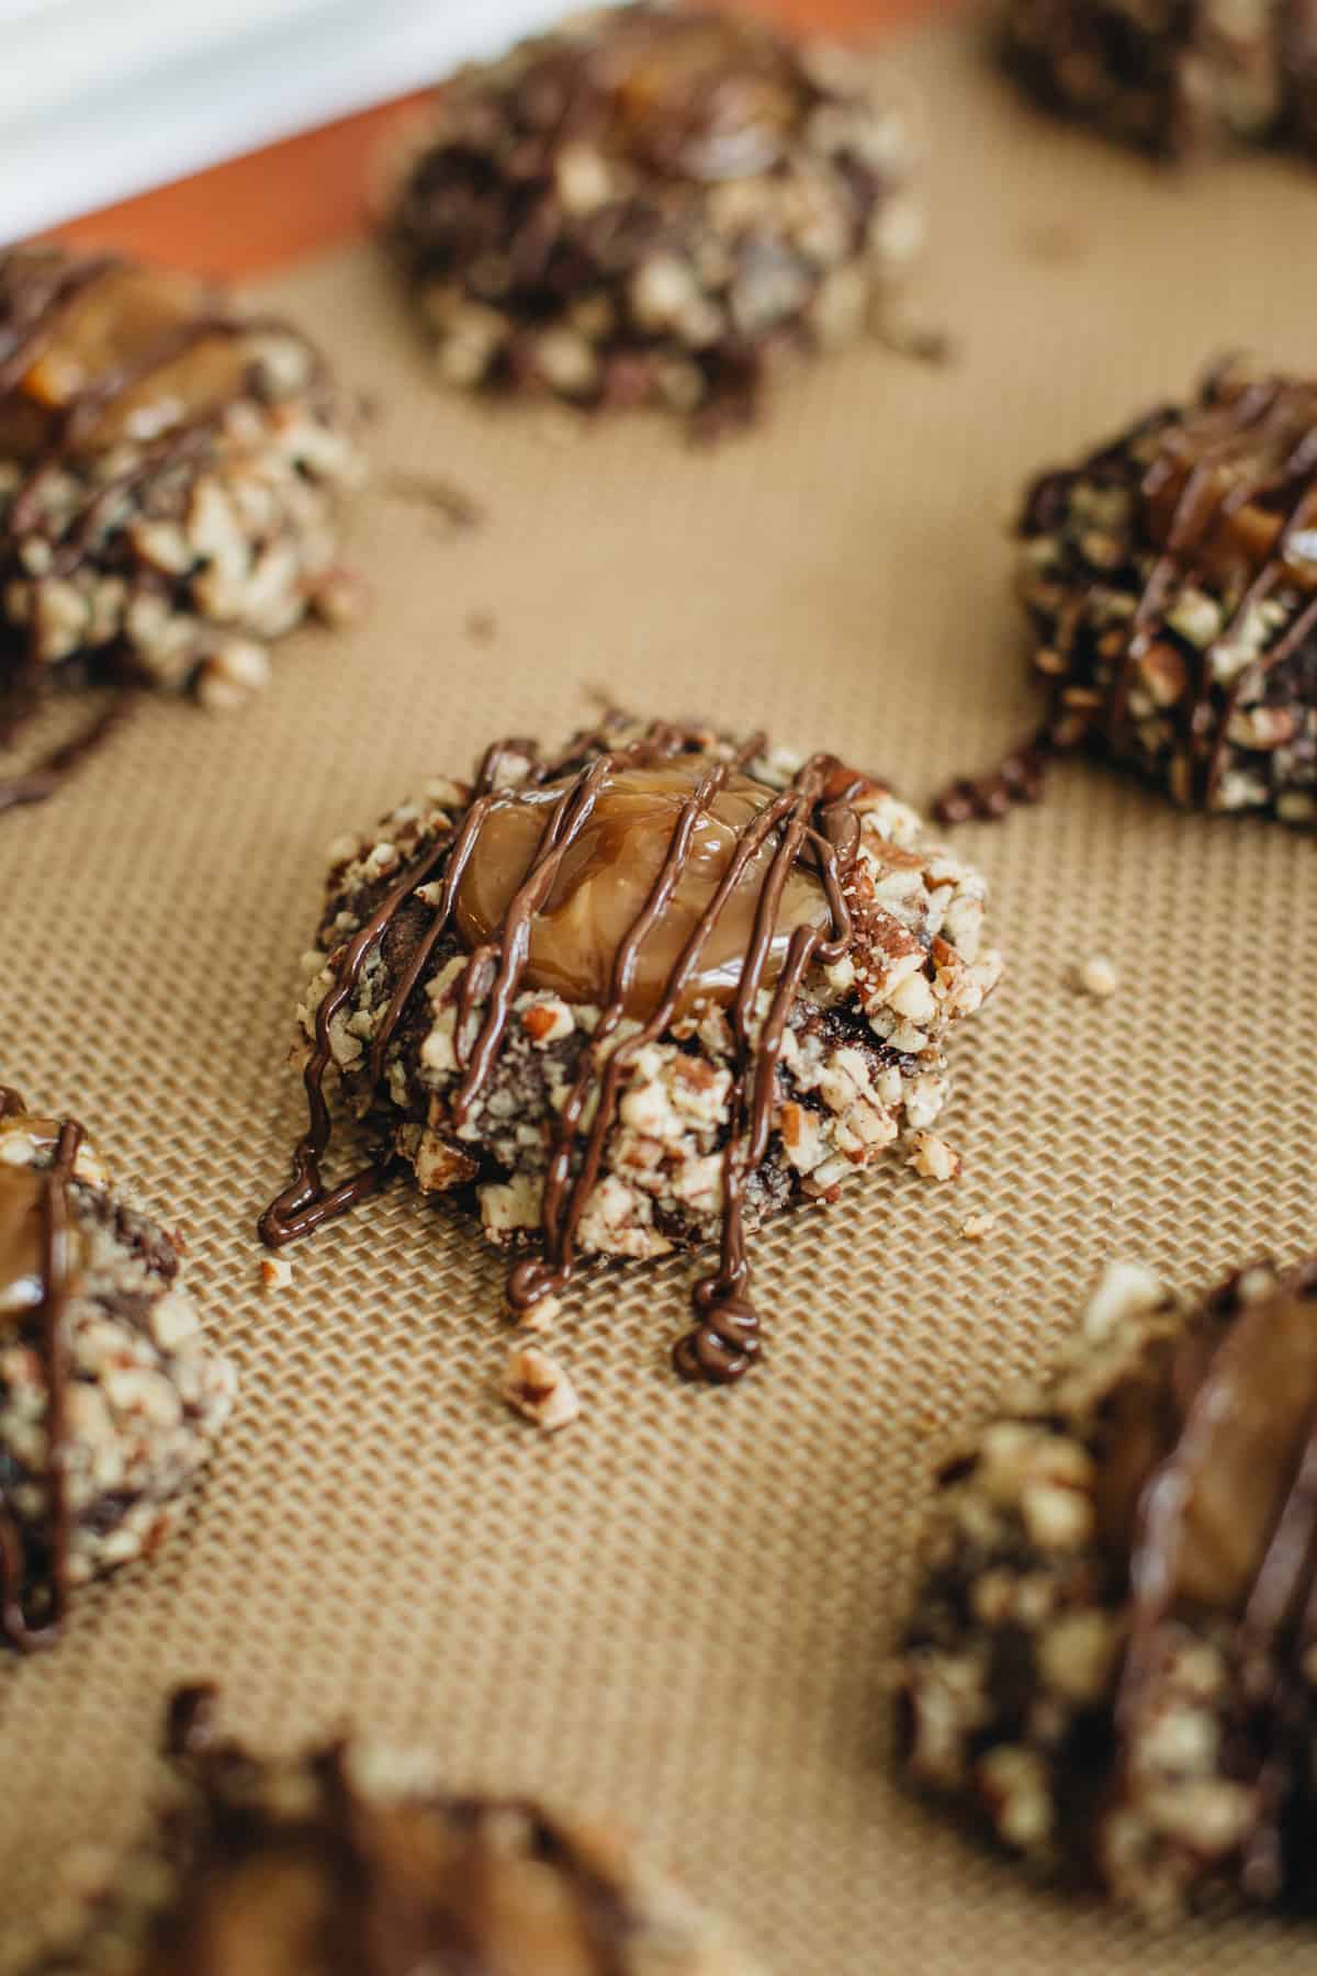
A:
MULTIPOLYGON (((0 401, 0 451, 36 458, 55 437, 61 413, 87 391, 148 362, 162 340, 207 318, 207 296, 190 275, 154 269, 113 269, 59 310, 18 389, 0 401)), ((89 419, 77 451, 97 451, 120 439, 148 441, 233 397, 249 354, 243 340, 197 334, 170 362, 115 395, 89 419)))

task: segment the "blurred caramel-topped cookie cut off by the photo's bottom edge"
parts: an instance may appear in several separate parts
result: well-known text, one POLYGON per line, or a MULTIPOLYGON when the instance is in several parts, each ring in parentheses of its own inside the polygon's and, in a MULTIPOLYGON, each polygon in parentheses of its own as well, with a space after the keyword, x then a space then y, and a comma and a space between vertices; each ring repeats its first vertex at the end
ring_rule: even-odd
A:
POLYGON ((209 1709, 176 1697, 172 1802, 30 1976, 762 1976, 610 1828, 452 1796, 417 1751, 251 1757, 209 1709))

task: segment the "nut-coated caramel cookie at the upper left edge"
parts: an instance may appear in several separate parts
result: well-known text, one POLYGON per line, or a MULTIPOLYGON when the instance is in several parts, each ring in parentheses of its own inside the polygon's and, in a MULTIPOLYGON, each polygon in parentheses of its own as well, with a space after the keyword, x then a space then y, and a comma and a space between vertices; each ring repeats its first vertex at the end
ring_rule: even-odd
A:
POLYGON ((261 686, 272 638, 351 601, 357 423, 298 330, 190 275, 0 253, 0 743, 55 682, 261 686))

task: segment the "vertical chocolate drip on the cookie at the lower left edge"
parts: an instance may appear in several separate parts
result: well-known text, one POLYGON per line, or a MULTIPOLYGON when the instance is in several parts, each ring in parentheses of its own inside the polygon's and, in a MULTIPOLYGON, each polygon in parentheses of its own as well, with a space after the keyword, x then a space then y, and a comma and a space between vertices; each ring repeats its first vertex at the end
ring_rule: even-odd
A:
MULTIPOLYGON (((26 1116, 24 1101, 14 1089, 0 1085, 0 1120, 14 1116, 26 1116)), ((34 1124, 45 1126, 45 1120, 34 1120, 34 1124)), ((51 1164, 39 1170, 18 1168, 14 1174, 14 1184, 34 1182, 39 1225, 38 1298, 30 1310, 22 1312, 22 1318, 36 1324, 38 1356, 45 1379, 45 1468, 41 1486, 49 1531, 49 1610, 41 1620, 32 1620, 24 1610, 26 1563, 22 1527, 14 1512, 0 1500, 0 1636, 22 1654, 51 1646, 59 1638, 69 1603, 69 1348, 63 1320, 73 1286, 73 1209, 69 1203, 69 1182, 81 1142, 83 1128, 67 1120, 57 1128, 51 1164)))

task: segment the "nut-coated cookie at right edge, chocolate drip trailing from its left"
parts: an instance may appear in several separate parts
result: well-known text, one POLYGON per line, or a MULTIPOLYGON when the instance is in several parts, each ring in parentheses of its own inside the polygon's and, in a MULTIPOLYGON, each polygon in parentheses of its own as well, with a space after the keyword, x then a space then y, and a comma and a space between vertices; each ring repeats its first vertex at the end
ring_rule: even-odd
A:
POLYGON ((942 822, 1035 800, 1074 747, 1185 806, 1317 820, 1317 383, 1218 368, 1043 474, 1019 534, 1050 711, 1003 773, 938 798, 942 822))

